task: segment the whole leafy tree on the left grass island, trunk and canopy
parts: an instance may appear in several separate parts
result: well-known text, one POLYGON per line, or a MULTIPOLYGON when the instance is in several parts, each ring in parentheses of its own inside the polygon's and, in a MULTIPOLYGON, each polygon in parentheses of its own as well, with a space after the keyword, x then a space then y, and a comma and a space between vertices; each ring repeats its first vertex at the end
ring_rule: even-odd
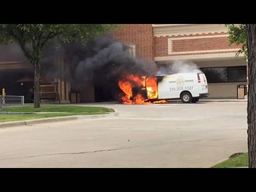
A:
POLYGON ((42 51, 52 42, 64 43, 106 34, 114 24, 0 24, 0 44, 16 43, 34 66, 34 108, 40 107, 40 61, 42 51))

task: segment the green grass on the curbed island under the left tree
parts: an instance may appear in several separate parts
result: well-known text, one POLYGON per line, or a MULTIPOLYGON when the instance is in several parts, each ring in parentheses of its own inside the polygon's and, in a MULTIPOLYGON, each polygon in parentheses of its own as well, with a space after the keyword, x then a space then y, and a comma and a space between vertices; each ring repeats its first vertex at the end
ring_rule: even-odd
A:
MULTIPOLYGON (((1 112, 6 112, 2 109, 1 112)), ((51 118, 72 115, 98 115, 114 112, 113 109, 104 107, 86 106, 41 106, 34 109, 33 106, 9 107, 8 112, 66 112, 66 113, 46 113, 46 114, 0 114, 0 122, 20 121, 40 118, 51 118)))

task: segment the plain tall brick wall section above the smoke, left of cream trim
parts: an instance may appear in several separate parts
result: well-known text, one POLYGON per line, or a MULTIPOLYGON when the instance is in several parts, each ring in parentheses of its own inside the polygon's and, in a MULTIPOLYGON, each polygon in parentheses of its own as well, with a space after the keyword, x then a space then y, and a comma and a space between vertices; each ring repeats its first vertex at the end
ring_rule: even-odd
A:
POLYGON ((124 24, 121 29, 112 32, 111 36, 122 42, 135 44, 138 58, 154 60, 152 24, 124 24))

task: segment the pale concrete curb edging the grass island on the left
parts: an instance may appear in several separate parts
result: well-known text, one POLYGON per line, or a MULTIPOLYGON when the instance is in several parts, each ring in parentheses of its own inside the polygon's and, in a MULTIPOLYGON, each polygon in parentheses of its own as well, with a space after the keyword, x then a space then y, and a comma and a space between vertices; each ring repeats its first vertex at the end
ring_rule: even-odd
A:
POLYGON ((52 118, 42 118, 42 119, 33 119, 33 120, 25 120, 25 121, 3 122, 3 123, 0 123, 0 128, 10 128, 10 127, 24 126, 24 125, 31 126, 33 124, 70 121, 70 120, 79 120, 79 119, 109 118, 109 117, 116 117, 118 115, 119 115, 119 112, 115 110, 114 113, 101 114, 101 115, 82 115, 82 116, 74 115, 74 116, 66 116, 66 117, 52 117, 52 118))

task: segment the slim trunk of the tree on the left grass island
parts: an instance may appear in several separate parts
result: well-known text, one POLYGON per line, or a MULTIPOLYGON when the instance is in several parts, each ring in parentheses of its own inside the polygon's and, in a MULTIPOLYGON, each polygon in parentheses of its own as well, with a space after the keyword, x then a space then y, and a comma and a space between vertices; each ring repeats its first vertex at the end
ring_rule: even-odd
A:
POLYGON ((40 108, 40 65, 34 64, 34 108, 40 108))

